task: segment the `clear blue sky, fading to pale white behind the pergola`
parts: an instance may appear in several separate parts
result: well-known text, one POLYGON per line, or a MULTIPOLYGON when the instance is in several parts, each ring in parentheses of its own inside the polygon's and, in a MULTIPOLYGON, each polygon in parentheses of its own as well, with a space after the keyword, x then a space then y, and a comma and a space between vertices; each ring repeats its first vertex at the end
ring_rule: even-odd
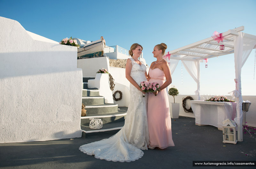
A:
MULTIPOLYGON (((28 31, 60 41, 72 36, 98 40, 125 49, 133 43, 143 46, 147 63, 156 44, 164 42, 167 51, 208 38, 214 31, 244 26, 243 32, 256 35, 256 0, 180 1, 9 1, 0 0, 0 16, 17 20, 28 31)), ((256 95, 253 49, 242 68, 242 94, 256 95)), ((201 94, 225 94, 235 90, 233 55, 201 63, 201 94)), ((196 83, 179 63, 172 84, 180 94, 193 95, 196 83), (183 77, 183 78, 182 78, 183 77), (183 84, 181 81, 183 79, 183 84)))

